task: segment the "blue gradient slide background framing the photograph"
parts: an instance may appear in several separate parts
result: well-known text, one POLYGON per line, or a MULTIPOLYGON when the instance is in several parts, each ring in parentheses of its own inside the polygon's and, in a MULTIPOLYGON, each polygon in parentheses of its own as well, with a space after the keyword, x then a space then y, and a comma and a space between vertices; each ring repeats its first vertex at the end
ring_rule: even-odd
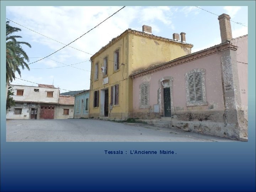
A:
POLYGON ((255 191, 255 1, 1 1, 1 191, 255 191), (248 142, 5 142, 6 5, 240 5, 249 9, 248 142), (104 150, 127 154, 106 155, 104 150), (156 150, 157 155, 130 155, 156 150), (174 155, 160 155, 173 150, 174 155))

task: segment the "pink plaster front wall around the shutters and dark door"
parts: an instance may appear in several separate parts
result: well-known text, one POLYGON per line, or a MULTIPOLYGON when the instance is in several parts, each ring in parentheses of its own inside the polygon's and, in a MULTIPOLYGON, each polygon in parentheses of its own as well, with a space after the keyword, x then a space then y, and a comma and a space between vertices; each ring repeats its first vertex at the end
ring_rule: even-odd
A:
POLYGON ((173 78, 174 111, 172 111, 172 114, 186 111, 224 110, 220 55, 215 53, 208 57, 199 58, 191 62, 135 78, 133 81, 133 110, 135 113, 142 112, 142 110, 139 109, 139 85, 144 81, 150 83, 149 103, 151 107, 147 112, 153 111, 153 105, 159 104, 159 80, 164 76, 171 76, 173 78), (190 70, 198 68, 206 70, 205 84, 208 105, 187 107, 185 74, 190 70))

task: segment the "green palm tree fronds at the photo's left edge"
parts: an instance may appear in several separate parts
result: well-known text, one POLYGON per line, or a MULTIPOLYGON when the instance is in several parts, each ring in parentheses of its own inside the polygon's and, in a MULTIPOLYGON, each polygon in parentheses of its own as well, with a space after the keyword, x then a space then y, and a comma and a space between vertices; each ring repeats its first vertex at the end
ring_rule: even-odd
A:
POLYGON ((21 36, 12 35, 14 32, 21 31, 20 28, 12 27, 9 25, 9 21, 6 21, 6 85, 9 81, 15 80, 15 72, 21 76, 21 71, 19 67, 29 69, 28 55, 22 49, 21 45, 25 44, 31 48, 31 45, 27 42, 17 41, 16 38, 22 38, 21 36), (25 67, 24 67, 25 66, 25 67))

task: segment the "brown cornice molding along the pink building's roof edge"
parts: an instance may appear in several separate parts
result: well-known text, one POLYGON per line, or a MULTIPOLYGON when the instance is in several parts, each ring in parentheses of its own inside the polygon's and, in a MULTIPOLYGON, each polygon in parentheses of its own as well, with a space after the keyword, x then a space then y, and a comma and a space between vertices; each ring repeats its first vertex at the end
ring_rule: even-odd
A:
POLYGON ((166 62, 166 63, 162 63, 162 64, 157 65, 157 66, 153 66, 153 67, 148 68, 148 69, 144 69, 142 71, 134 72, 133 74, 130 75, 130 77, 138 78, 140 76, 144 76, 144 75, 147 75, 147 74, 150 74, 150 73, 154 73, 156 71, 171 68, 172 66, 180 65, 180 64, 183 64, 183 63, 187 63, 187 62, 202 58, 202 57, 206 57, 208 55, 212 55, 214 53, 218 53, 218 52, 226 50, 226 49, 237 50, 237 48, 238 47, 230 44, 229 42, 224 42, 224 43, 219 44, 217 46, 213 46, 213 47, 210 47, 210 48, 207 48, 207 49, 203 49, 203 50, 198 51, 196 53, 191 53, 189 55, 185 55, 183 57, 171 60, 171 61, 166 62))

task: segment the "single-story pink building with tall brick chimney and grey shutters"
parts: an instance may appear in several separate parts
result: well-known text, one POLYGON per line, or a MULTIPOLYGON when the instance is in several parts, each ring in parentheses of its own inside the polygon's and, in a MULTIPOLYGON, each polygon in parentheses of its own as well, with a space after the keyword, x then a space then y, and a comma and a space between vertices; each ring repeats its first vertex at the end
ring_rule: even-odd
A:
POLYGON ((229 15, 218 19, 222 43, 130 75, 134 118, 247 139, 248 36, 233 39, 229 15))

